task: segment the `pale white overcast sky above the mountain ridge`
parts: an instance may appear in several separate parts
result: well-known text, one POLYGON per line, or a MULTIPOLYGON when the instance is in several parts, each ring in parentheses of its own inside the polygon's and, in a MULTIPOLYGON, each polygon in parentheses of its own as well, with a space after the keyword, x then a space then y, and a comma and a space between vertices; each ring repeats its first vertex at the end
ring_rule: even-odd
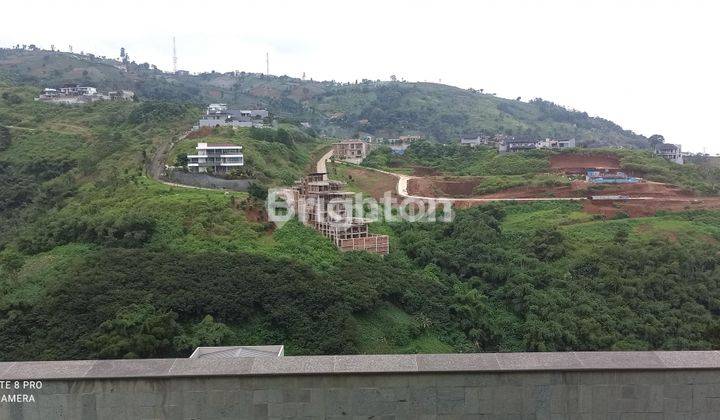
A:
POLYGON ((0 6, 0 45, 54 44, 190 71, 440 81, 542 97, 720 153, 720 2, 72 1, 0 6), (106 5, 107 4, 107 5, 106 5))

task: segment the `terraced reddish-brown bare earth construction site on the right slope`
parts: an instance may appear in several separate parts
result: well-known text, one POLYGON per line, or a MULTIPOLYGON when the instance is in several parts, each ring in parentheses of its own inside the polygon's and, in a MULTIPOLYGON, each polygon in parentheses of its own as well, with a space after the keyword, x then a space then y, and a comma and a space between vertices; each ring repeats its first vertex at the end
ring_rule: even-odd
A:
POLYGON ((413 170, 413 175, 350 165, 346 171, 360 189, 373 196, 380 196, 381 190, 396 185, 393 190, 400 197, 445 199, 459 208, 492 201, 577 200, 583 202, 584 211, 606 217, 619 213, 642 217, 658 211, 720 209, 719 197, 699 196, 672 184, 643 179, 630 183, 594 183, 584 179, 590 169, 620 173, 621 164, 618 157, 611 154, 554 155, 550 157, 550 170, 552 175, 563 179, 560 185, 523 185, 485 194, 477 192, 487 178, 482 176, 424 175, 436 173, 432 168, 413 170), (363 182, 364 179, 373 181, 363 182))

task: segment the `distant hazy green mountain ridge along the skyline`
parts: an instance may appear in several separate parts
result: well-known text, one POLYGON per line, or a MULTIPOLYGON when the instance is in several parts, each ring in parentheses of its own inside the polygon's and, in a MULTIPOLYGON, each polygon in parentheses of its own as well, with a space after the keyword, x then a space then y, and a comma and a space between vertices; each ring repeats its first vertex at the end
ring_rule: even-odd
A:
POLYGON ((461 135, 506 133, 574 137, 587 146, 647 145, 644 136, 611 121, 548 101, 510 100, 436 83, 341 84, 245 72, 173 75, 147 63, 124 65, 90 54, 13 49, 0 49, 0 77, 32 85, 130 89, 146 99, 267 107, 331 136, 421 134, 450 142, 461 135))

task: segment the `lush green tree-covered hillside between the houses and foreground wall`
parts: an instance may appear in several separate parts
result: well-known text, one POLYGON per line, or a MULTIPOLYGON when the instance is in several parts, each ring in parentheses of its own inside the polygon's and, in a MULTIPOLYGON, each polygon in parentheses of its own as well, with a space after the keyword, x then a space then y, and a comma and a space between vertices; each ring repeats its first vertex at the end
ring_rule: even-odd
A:
MULTIPOLYGON (((51 105, 32 100, 39 89, 0 82, 1 360, 271 343, 288 354, 720 348, 718 211, 606 220, 578 203, 487 205, 452 223, 374 224, 391 236, 384 258, 340 253, 297 221, 258 221, 263 203, 246 193, 146 176, 197 106, 51 105)), ((324 144, 280 133, 209 138, 246 145, 248 169, 281 184, 324 144)))

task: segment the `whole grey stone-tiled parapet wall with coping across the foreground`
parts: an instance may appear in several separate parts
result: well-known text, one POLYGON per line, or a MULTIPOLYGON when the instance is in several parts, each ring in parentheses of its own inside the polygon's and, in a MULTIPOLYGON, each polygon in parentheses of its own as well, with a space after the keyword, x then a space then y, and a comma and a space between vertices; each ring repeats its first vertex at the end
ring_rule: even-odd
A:
POLYGON ((718 352, 0 363, 0 379, 43 382, 1 419, 720 418, 718 352))

